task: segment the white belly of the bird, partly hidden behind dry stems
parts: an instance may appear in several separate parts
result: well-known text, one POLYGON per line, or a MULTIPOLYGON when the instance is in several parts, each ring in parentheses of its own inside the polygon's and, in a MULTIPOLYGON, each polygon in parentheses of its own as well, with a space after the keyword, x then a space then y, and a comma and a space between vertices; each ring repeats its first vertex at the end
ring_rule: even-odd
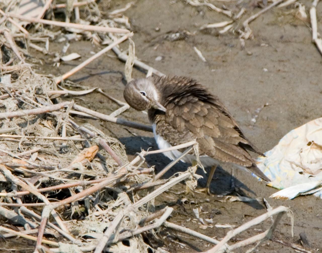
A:
MULTIPOLYGON (((172 147, 172 145, 167 142, 165 139, 163 139, 160 135, 156 134, 156 124, 152 125, 153 128, 153 135, 154 138, 156 140, 156 144, 158 145, 159 149, 165 149, 165 148, 169 148, 172 147)), ((182 154, 182 152, 178 151, 178 150, 172 150, 172 151, 167 151, 167 152, 163 152, 163 154, 168 157, 171 160, 175 160, 176 157, 180 156, 182 154)), ((195 155, 185 155, 181 161, 184 163, 192 163, 193 160, 196 159, 195 155)), ((204 165, 204 167, 208 167, 208 166, 214 166, 214 165, 219 165, 220 162, 209 157, 208 155, 201 155, 200 156, 200 161, 201 163, 204 165)))

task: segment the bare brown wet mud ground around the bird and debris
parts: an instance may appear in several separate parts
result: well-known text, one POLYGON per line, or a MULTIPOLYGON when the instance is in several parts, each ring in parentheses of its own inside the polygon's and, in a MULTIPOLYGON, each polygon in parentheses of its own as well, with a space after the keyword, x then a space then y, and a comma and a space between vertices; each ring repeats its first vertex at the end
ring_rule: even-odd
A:
MULTIPOLYGON (((109 9, 101 1, 102 11, 120 8, 129 1, 113 1, 109 9)), ((310 6, 310 1, 302 1, 310 6)), ((247 13, 255 13, 256 1, 217 2, 229 8, 234 5, 244 6, 247 13), (239 3, 239 2, 238 2, 239 3)), ((317 8, 321 16, 322 5, 317 8)), ((136 45, 136 55, 139 59, 167 74, 191 76, 203 83, 208 89, 219 96, 233 117, 239 122, 246 136, 262 151, 270 150, 281 137, 291 129, 310 120, 321 117, 322 86, 321 68, 322 57, 311 43, 309 23, 295 17, 291 9, 273 9, 261 15, 251 23, 254 39, 247 40, 245 48, 241 47, 238 34, 225 33, 218 35, 215 29, 198 31, 195 35, 186 35, 181 40, 170 41, 167 35, 181 32, 193 33, 206 23, 216 23, 225 20, 225 16, 206 7, 192 7, 183 1, 151 1, 140 0, 125 12, 135 31, 132 38, 136 45), (207 62, 203 62, 193 47, 197 47, 207 62), (159 61, 157 61, 159 60, 159 61), (262 109, 255 124, 251 118, 255 110, 264 104, 269 106, 262 109)), ((318 24, 322 27, 321 20, 318 24)), ((320 31, 322 32, 322 31, 320 31)), ((187 34, 187 33, 185 33, 187 34)), ((126 49, 128 42, 121 47, 126 49)), ((63 43, 51 43, 50 50, 60 51, 63 43)), ((37 67, 39 72, 63 74, 84 59, 87 59, 98 49, 88 41, 73 42, 67 53, 81 54, 81 60, 62 63, 59 68, 52 67, 47 56, 32 51, 33 55, 43 61, 37 67)), ((144 77, 145 73, 134 69, 133 78, 144 77)), ((92 62, 82 71, 71 77, 71 80, 86 86, 99 87, 113 97, 124 101, 124 63, 115 59, 112 52, 92 62)), ((115 104, 110 103, 102 95, 95 93, 81 98, 75 98, 80 105, 102 113, 109 114, 115 110, 115 104)), ((130 108, 121 117, 128 120, 148 124, 147 115, 130 108)), ((130 129, 123 126, 99 121, 78 119, 79 122, 89 122, 99 127, 107 134, 117 137, 127 149, 129 156, 135 155, 141 148, 157 149, 152 133, 130 129)), ((160 171, 170 161, 163 155, 147 157, 148 165, 155 165, 160 171)), ((177 171, 184 171, 186 165, 177 164, 166 176, 177 171)), ((162 194, 156 199, 157 208, 166 205, 174 207, 171 222, 184 225, 215 239, 225 236, 229 228, 198 229, 194 221, 194 208, 202 208, 202 218, 212 218, 213 224, 230 224, 239 226, 266 212, 261 201, 258 203, 220 202, 223 194, 230 189, 231 170, 223 165, 214 174, 211 185, 212 195, 189 193, 185 195, 185 185, 181 184, 162 194)), ((203 174, 202 171, 198 173, 203 174)), ((199 186, 204 186, 205 179, 199 186)), ((272 207, 284 205, 290 207, 294 214, 294 237, 291 236, 291 221, 283 217, 273 240, 261 244, 258 252, 294 252, 294 249, 283 246, 274 240, 300 244, 299 234, 305 232, 311 243, 311 251, 322 250, 322 220, 320 209, 322 201, 314 196, 298 197, 292 201, 274 200, 269 196, 276 189, 258 182, 250 174, 238 171, 237 187, 240 194, 248 197, 265 197, 272 207)), ((234 241, 246 239, 259 231, 265 231, 270 226, 266 220, 248 232, 233 238, 234 241)), ((211 247, 210 244, 176 233, 172 230, 161 230, 158 239, 148 235, 150 244, 164 247, 170 252, 196 252, 211 247)), ((245 248, 236 252, 246 252, 245 248)))

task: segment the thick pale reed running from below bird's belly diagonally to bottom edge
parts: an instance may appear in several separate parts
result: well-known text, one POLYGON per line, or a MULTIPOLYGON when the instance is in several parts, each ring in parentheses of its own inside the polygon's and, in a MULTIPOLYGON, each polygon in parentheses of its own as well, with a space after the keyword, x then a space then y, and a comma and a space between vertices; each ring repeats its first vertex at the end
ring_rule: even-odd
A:
POLYGON ((161 194, 162 192, 168 190, 175 184, 181 182, 182 180, 187 179, 191 176, 191 173, 186 172, 181 174, 180 176, 173 178, 168 183, 162 185, 160 188, 156 189, 155 191, 149 193, 147 196, 143 197, 136 203, 131 204, 126 209, 120 211, 118 215, 114 218, 113 222, 110 224, 109 228, 105 231, 103 238, 100 240, 99 244, 96 246, 94 253, 101 253, 107 242, 109 241, 113 231, 118 227, 118 224, 121 222, 123 217, 127 215, 131 211, 135 211, 141 205, 147 203, 148 201, 154 199, 156 196, 161 194))

